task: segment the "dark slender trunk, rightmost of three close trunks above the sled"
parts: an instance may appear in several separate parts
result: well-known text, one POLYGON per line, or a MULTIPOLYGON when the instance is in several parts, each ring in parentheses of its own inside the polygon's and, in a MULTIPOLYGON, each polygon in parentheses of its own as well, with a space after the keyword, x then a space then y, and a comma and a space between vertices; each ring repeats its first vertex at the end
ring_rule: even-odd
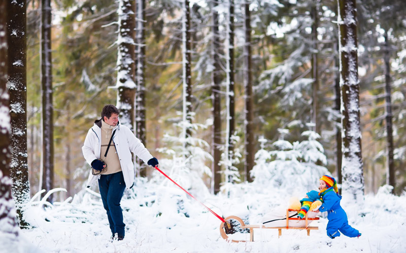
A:
POLYGON ((251 14, 250 1, 245 6, 245 45, 244 45, 244 92, 245 92, 245 163, 244 170, 248 182, 252 182, 250 172, 254 166, 254 128, 253 128, 253 96, 252 96, 252 65, 251 65, 251 14))

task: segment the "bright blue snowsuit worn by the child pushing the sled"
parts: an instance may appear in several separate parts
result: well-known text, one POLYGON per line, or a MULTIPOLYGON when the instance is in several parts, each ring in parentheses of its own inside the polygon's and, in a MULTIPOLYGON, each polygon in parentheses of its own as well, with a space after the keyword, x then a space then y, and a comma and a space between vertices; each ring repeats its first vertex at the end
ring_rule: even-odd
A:
POLYGON ((340 205, 341 196, 333 190, 326 190, 323 196, 323 204, 320 206, 320 212, 327 214, 327 235, 330 238, 340 236, 340 232, 348 237, 357 237, 359 231, 348 225, 348 218, 345 210, 340 205), (340 230, 340 232, 339 232, 340 230))

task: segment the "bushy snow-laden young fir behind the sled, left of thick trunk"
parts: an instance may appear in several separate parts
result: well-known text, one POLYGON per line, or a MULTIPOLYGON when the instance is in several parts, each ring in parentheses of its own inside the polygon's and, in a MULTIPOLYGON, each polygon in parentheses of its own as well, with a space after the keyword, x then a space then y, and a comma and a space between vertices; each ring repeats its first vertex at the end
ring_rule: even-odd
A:
MULTIPOLYGON (((287 133, 286 130, 280 130, 287 133)), ((327 164, 323 146, 317 141, 320 135, 313 131, 305 131, 301 142, 283 140, 273 143, 274 150, 267 151, 263 145, 266 140, 261 138, 261 149, 255 154, 252 170, 254 184, 273 185, 283 189, 313 190, 317 187, 320 175, 328 174, 327 168, 317 165, 327 164)))

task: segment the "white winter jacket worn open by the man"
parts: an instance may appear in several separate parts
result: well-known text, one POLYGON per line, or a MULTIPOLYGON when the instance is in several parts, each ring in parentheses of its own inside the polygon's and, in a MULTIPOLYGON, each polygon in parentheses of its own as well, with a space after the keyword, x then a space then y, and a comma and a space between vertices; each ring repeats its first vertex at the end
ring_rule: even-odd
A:
MULTIPOLYGON (((124 182, 127 189, 134 184, 134 164, 132 163, 131 152, 137 155, 145 163, 153 158, 150 152, 145 148, 144 144, 134 136, 127 126, 117 123, 113 131, 116 133, 113 136, 113 141, 110 150, 117 150, 118 158, 120 159, 121 170, 123 171, 124 182), (113 148, 115 145, 115 149, 113 148)), ((87 132, 85 143, 82 147, 83 156, 87 163, 91 164, 94 159, 100 159, 101 148, 101 119, 94 121, 94 125, 87 132)), ((89 178, 87 187, 94 184, 100 175, 92 175, 91 168, 89 170, 89 178)))

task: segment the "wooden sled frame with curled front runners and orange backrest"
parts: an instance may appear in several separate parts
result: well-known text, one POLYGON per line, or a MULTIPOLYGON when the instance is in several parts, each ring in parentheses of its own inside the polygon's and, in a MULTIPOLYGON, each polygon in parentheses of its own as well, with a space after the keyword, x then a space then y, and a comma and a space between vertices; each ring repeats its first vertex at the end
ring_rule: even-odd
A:
POLYGON ((315 221, 315 220, 319 220, 319 217, 316 218, 308 218, 308 215, 306 214, 306 216, 302 219, 305 220, 305 226, 304 227, 289 227, 289 220, 299 220, 299 218, 289 218, 289 211, 295 211, 298 212, 299 210, 294 210, 294 209, 286 209, 286 227, 264 227, 263 225, 245 225, 244 221, 237 217, 237 216, 228 216, 227 218, 225 218, 224 220, 226 221, 227 224, 224 224, 224 222, 222 222, 220 224, 220 234, 221 237, 223 237, 223 239, 225 240, 230 240, 232 242, 243 242, 245 240, 232 240, 228 238, 227 233, 225 232, 225 227, 224 226, 229 226, 228 224, 228 220, 234 219, 238 222, 241 223, 241 228, 242 229, 250 229, 250 241, 254 241, 254 229, 278 229, 278 238, 282 235, 282 229, 300 229, 300 230, 307 230, 308 231, 308 236, 310 236, 310 230, 318 230, 319 227, 310 227, 309 226, 309 222, 308 221, 315 221))

